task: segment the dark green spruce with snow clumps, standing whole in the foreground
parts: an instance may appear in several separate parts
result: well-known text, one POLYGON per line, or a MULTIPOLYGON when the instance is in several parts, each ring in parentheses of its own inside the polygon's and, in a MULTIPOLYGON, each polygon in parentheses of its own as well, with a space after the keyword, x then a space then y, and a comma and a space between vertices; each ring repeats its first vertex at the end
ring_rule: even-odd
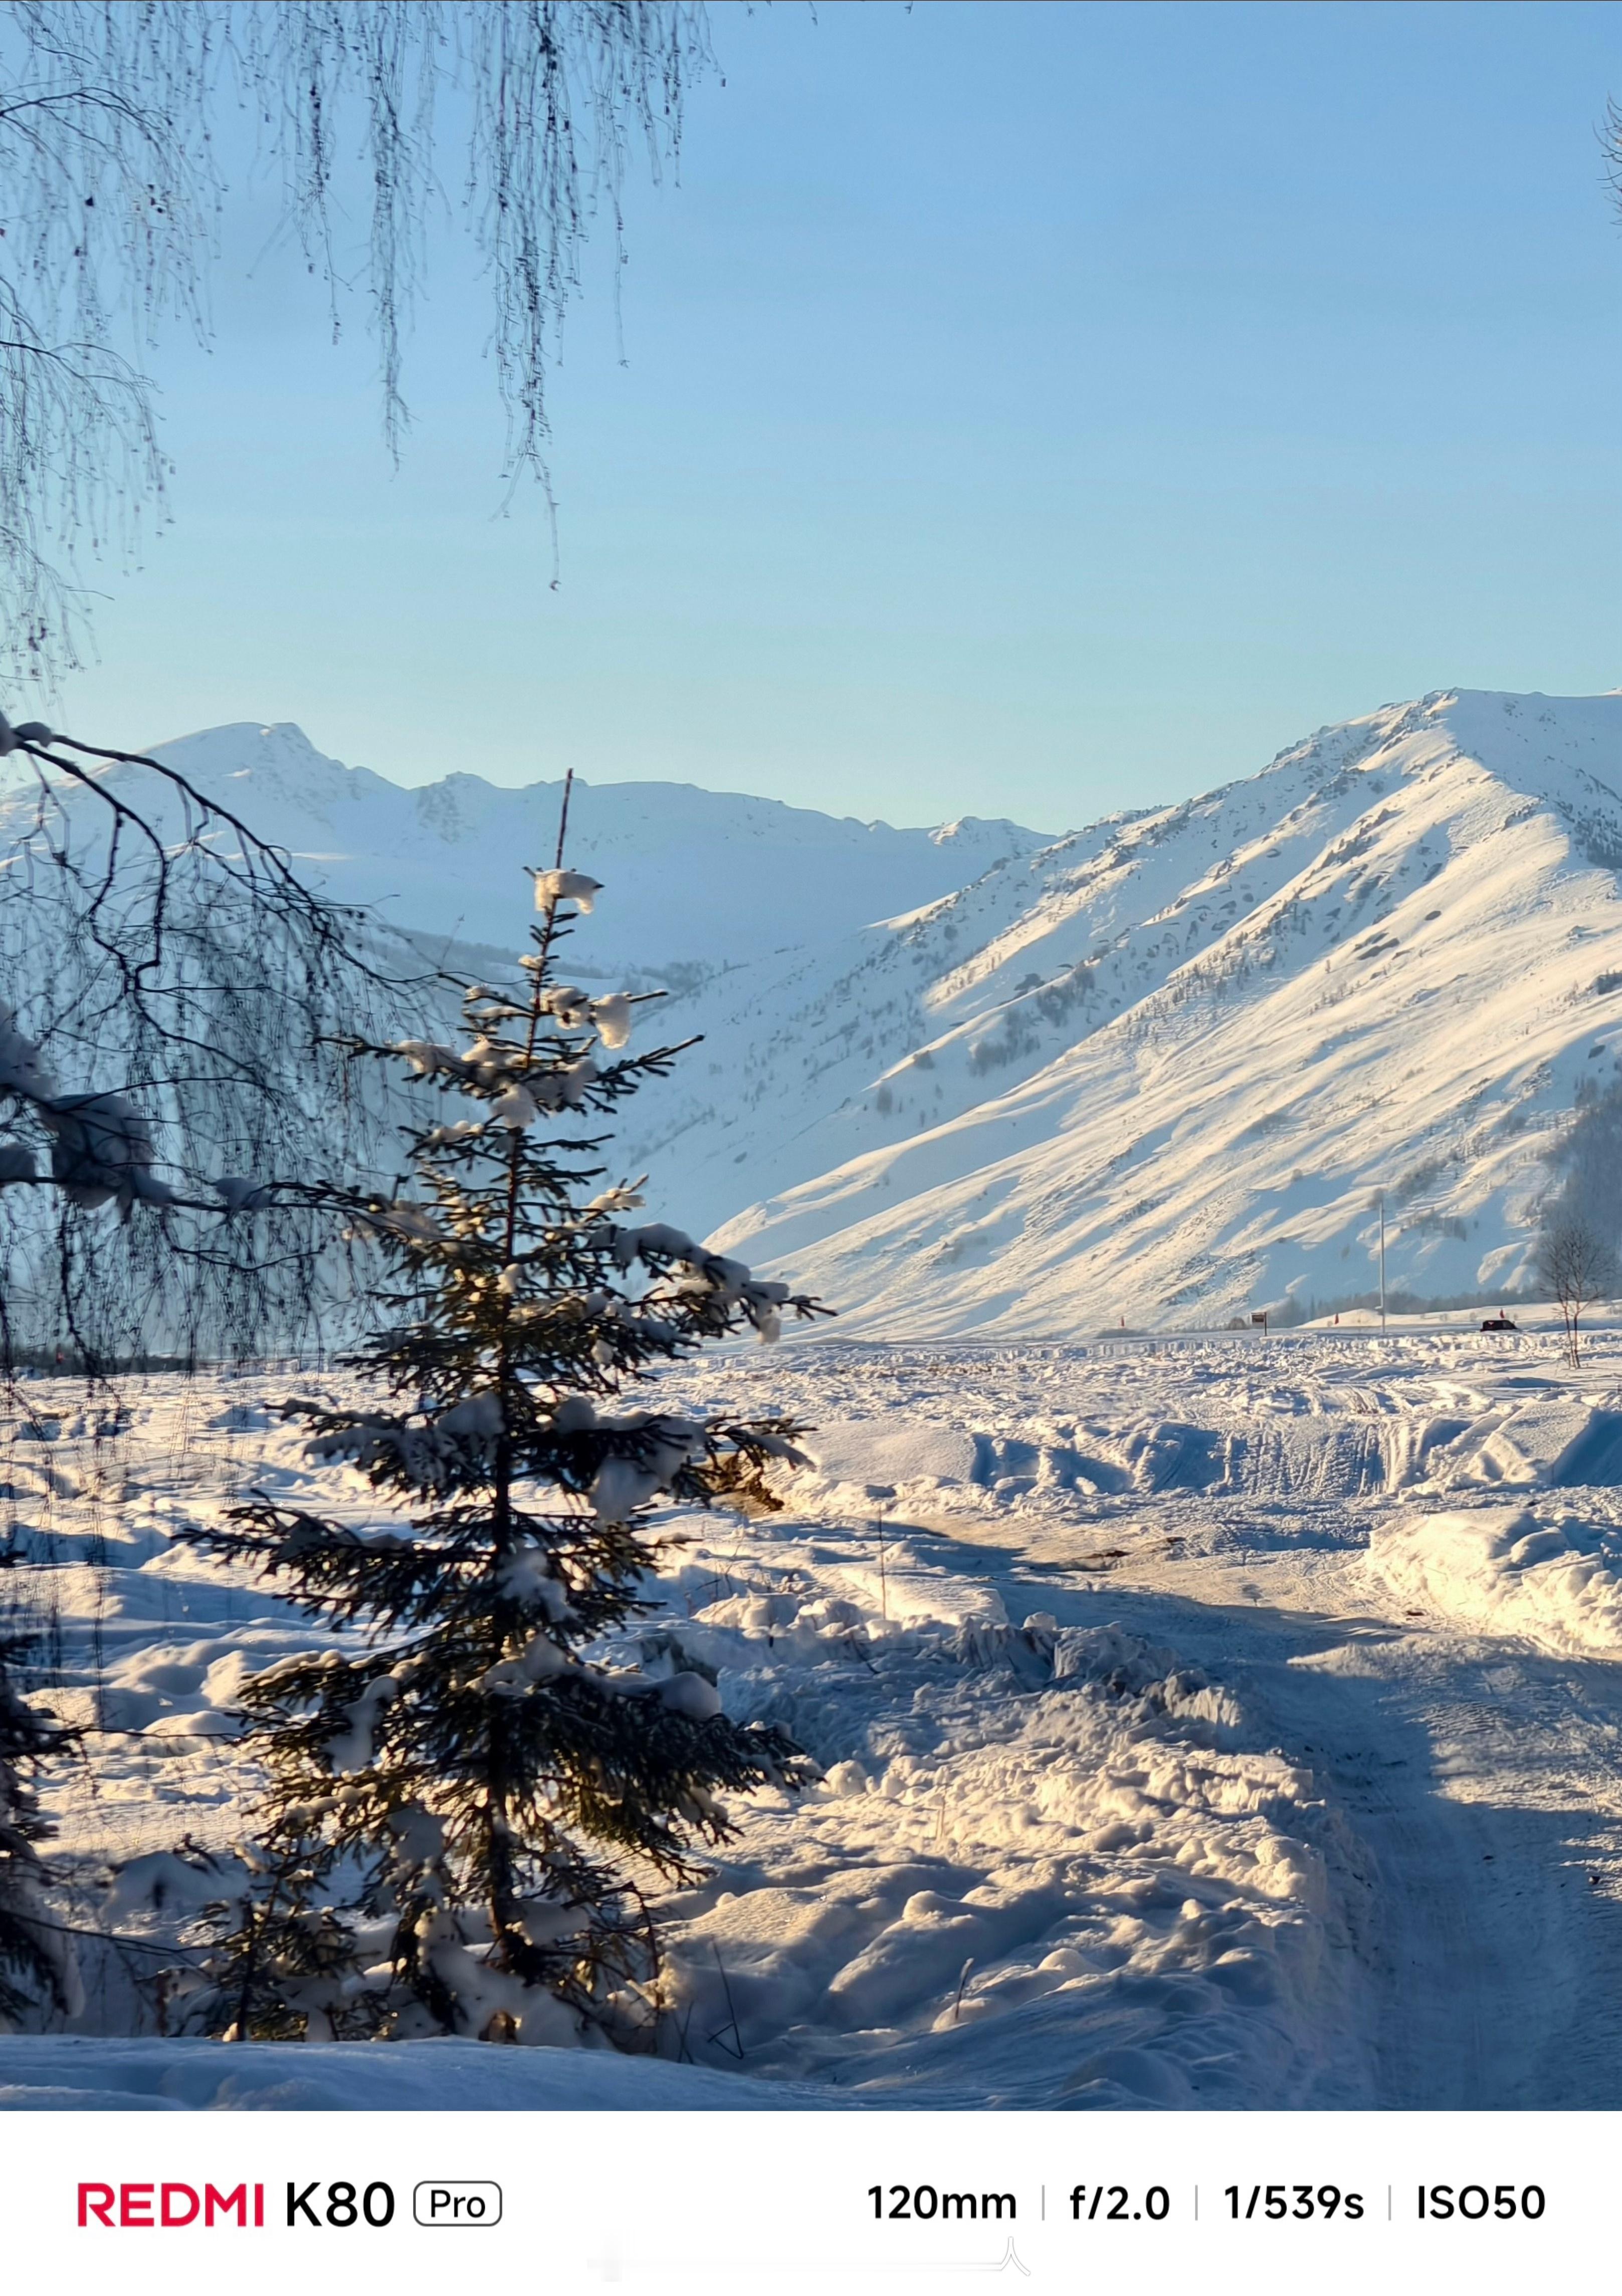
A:
POLYGON ((643 999, 556 978, 597 891, 535 875, 526 994, 466 990, 466 1049, 356 1047, 462 1114, 407 1134, 407 1194, 331 1196, 388 1270, 388 1320, 349 1359, 377 1407, 287 1410, 409 1527, 356 1534, 262 1499, 181 1534, 347 1630, 241 1692, 269 1789, 200 2000, 227 2037, 623 2037, 657 1975, 639 1880, 701 1869, 728 1835, 721 1793, 809 1775, 708 1678, 586 1655, 648 1607, 650 1504, 763 1490, 797 1433, 607 1405, 703 1341, 820 1313, 632 1224, 634 1189, 593 1192, 590 1120, 685 1049, 604 1058, 643 999))

